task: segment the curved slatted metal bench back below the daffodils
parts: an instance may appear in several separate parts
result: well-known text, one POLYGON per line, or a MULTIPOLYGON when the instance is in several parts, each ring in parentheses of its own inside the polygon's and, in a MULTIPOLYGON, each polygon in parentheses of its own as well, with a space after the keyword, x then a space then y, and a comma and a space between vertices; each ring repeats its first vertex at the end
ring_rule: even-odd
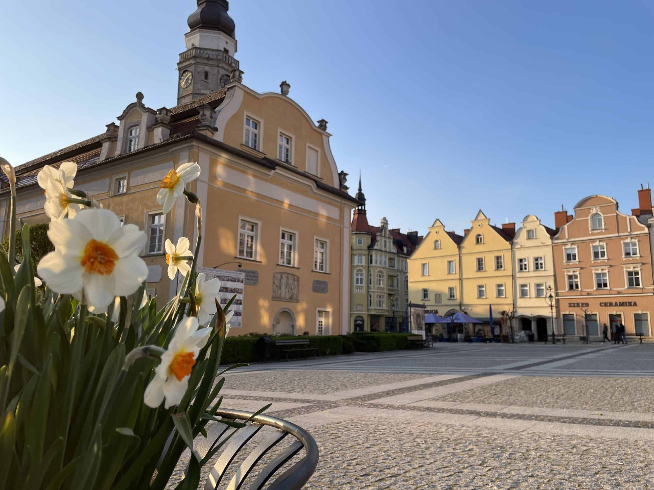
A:
MULTIPOLYGON (((243 421, 250 419, 252 412, 221 409, 215 415, 228 420, 243 421)), ((311 437, 311 434, 286 420, 258 415, 252 417, 248 421, 247 426, 241 429, 230 429, 226 424, 220 422, 213 424, 210 429, 207 427, 207 438, 198 446, 198 453, 201 458, 205 457, 212 448, 215 448, 216 444, 228 444, 228 446, 226 449, 221 448, 220 457, 218 457, 218 461, 211 468, 211 474, 209 474, 209 478, 205 482, 205 490, 218 489, 218 485, 220 485, 236 455, 265 426, 271 427, 273 429, 272 433, 267 434, 256 448, 248 454, 245 461, 235 471, 230 483, 225 487, 226 490, 241 490, 245 488, 248 490, 261 490, 273 477, 275 472, 290 461, 302 448, 306 449, 304 457, 283 472, 283 474, 275 478, 268 489, 299 490, 309 481, 309 478, 311 478, 318 465, 318 446, 315 440, 313 440, 313 437, 311 437), (255 468, 256 464, 270 449, 288 436, 288 434, 296 440, 269 461, 260 470, 252 483, 249 483, 247 487, 243 487, 245 479, 255 468)))

